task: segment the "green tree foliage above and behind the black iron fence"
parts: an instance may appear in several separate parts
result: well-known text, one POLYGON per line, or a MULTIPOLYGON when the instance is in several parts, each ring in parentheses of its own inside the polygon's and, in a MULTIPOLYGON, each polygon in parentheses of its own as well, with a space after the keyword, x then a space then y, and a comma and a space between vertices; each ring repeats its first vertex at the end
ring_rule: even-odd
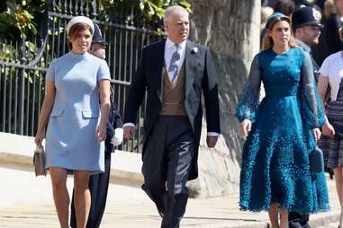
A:
MULTIPOLYGON (((3 0, 2 0, 3 1, 3 0)), ((75 0, 70 0, 75 1, 75 0)), ((46 22, 49 0, 6 0, 0 4, 0 38, 34 38, 46 22)), ((88 1, 92 4, 92 1, 88 1)), ((107 22, 157 29, 167 6, 178 4, 191 12, 187 1, 172 0, 102 0, 100 15, 107 22), (121 18, 120 18, 121 17, 121 18)))

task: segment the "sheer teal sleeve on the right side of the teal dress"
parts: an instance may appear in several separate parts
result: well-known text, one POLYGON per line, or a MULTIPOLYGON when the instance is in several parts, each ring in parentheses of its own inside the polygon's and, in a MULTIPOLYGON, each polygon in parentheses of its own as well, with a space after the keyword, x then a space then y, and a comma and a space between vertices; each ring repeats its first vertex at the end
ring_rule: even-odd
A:
POLYGON ((302 76, 300 81, 300 101, 302 110, 302 121, 304 127, 322 127, 325 123, 325 113, 317 93, 314 80, 311 57, 304 53, 302 60, 302 76))

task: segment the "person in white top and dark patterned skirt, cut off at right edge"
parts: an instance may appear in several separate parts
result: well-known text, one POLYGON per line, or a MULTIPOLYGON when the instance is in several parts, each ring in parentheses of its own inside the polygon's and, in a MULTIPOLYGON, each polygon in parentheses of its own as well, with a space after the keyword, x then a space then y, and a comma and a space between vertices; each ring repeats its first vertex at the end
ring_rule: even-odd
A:
MULTIPOLYGON (((343 40, 343 27, 339 29, 343 40)), ((328 154, 327 166, 335 173, 336 189, 341 207, 339 226, 343 225, 343 49, 325 58, 320 66, 318 93, 324 101, 328 85, 330 101, 326 103, 327 120, 323 127, 320 148, 328 154)))

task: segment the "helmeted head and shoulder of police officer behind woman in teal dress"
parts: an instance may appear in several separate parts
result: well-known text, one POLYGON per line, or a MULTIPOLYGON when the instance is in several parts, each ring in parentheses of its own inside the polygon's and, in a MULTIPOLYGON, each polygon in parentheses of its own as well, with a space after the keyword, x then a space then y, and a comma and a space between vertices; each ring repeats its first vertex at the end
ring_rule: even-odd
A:
MULTIPOLYGON (((299 44, 311 56, 311 48, 318 45, 320 39, 321 14, 311 6, 302 6, 292 14, 292 29, 295 42, 299 44)), ((311 57, 314 76, 318 80, 318 71, 320 67, 311 57)))

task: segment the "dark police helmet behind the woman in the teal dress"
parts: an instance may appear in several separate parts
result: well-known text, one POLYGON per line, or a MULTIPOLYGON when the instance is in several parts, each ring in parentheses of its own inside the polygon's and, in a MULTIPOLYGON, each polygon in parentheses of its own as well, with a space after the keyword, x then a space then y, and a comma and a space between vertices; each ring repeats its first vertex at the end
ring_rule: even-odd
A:
POLYGON ((302 6, 292 14, 293 30, 306 25, 315 25, 322 27, 320 18, 316 9, 311 6, 302 6))

